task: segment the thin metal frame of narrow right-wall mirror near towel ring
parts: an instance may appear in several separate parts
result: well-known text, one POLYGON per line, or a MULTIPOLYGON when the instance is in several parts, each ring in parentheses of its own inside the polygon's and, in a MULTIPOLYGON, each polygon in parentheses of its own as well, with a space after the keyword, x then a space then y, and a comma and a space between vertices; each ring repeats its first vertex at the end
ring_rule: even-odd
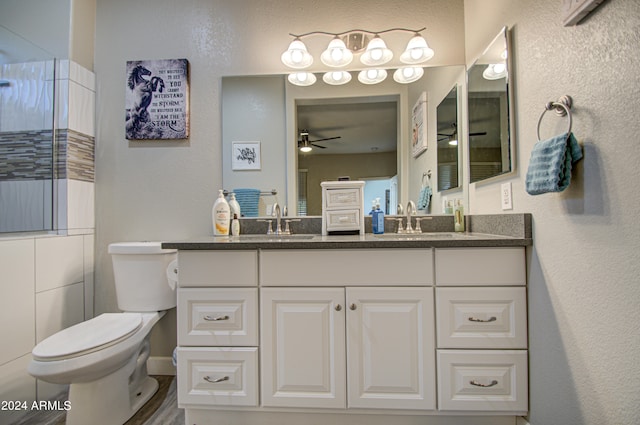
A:
POLYGON ((487 182, 492 182, 498 179, 502 179, 506 176, 513 176, 516 173, 516 162, 514 161, 514 159, 516 158, 516 132, 515 132, 515 102, 514 102, 514 85, 515 85, 515 80, 514 80, 514 75, 513 75, 513 66, 512 66, 512 56, 513 56, 513 49, 511 48, 511 32, 509 30, 508 27, 503 27, 498 34, 491 40, 491 42, 487 45, 487 47, 485 48, 485 50, 478 55, 472 62, 470 65, 467 66, 467 75, 466 75, 466 86, 467 86, 467 92, 466 92, 466 98, 467 98, 467 105, 466 105, 466 110, 467 113, 466 115, 466 129, 465 129, 465 135, 466 135, 466 139, 467 139, 467 173, 469 175, 469 179, 468 179, 468 183, 469 184, 482 184, 482 183, 487 183, 487 182), (507 77, 506 77, 506 101, 507 101, 507 126, 508 126, 508 130, 507 130, 507 135, 509 137, 507 146, 509 147, 509 155, 508 155, 508 165, 509 165, 509 169, 497 174, 494 174, 492 176, 488 176, 486 178, 480 179, 480 180, 476 180, 476 181, 471 181, 471 148, 472 148, 472 143, 471 143, 471 137, 470 137, 470 128, 471 128, 471 114, 469 111, 469 93, 470 93, 470 84, 469 84, 469 72, 471 70, 471 68, 473 66, 478 65, 478 61, 491 49, 491 47, 500 39, 504 40, 504 44, 505 44, 505 49, 507 51, 507 57, 505 59, 505 65, 507 68, 507 77))

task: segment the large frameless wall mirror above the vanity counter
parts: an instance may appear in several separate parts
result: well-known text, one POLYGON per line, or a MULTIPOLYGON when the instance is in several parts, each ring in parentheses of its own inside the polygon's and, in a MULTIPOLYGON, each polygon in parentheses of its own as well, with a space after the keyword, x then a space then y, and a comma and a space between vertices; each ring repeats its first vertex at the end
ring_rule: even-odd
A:
POLYGON ((433 170, 435 182, 436 108, 464 81, 462 65, 425 68, 423 78, 408 85, 388 79, 375 86, 318 81, 297 87, 283 75, 223 77, 224 188, 263 191, 260 215, 274 201, 287 205, 290 215, 319 215, 320 181, 349 177, 373 188, 371 194, 365 190, 365 206, 380 197, 385 213, 395 214, 398 204, 417 200, 426 170, 433 170), (423 92, 429 99, 428 148, 414 158, 411 108, 423 92), (299 150, 305 141, 316 145, 308 153, 299 150), (260 169, 232 169, 233 142, 260 142, 260 169))

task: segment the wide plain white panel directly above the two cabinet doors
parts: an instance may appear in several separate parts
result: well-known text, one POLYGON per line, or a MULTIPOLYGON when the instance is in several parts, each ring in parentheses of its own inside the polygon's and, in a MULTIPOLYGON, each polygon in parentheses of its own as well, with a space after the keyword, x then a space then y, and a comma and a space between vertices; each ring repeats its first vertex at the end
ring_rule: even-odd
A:
POLYGON ((260 251, 263 286, 430 286, 427 249, 277 249, 260 251))

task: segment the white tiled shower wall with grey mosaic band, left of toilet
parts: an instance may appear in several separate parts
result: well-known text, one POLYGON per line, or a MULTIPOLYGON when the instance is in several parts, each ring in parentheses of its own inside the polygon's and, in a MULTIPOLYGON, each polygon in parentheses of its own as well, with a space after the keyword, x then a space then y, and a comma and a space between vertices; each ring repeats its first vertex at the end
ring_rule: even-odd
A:
MULTIPOLYGON (((59 62, 56 79, 58 231, 0 236, 0 321, 6 325, 0 327, 0 399, 24 400, 29 405, 33 400, 51 399, 63 389, 36 382, 27 373, 35 344, 94 315, 95 79, 93 73, 68 60, 59 62)), ((47 148, 44 142, 50 140, 51 130, 43 130, 46 123, 36 118, 38 102, 28 106, 29 99, 25 97, 17 107, 19 113, 8 113, 11 119, 5 119, 4 97, 0 103, 0 149, 5 149, 0 150, 0 205, 15 202, 23 193, 20 196, 31 197, 31 203, 16 215, 35 216, 43 202, 51 202, 42 199, 43 189, 37 187, 51 186, 44 177, 51 175, 51 155, 46 152, 51 145, 47 148), (18 192, 20 185, 28 190, 18 192)), ((0 423, 11 423, 21 413, 0 411, 0 423)))

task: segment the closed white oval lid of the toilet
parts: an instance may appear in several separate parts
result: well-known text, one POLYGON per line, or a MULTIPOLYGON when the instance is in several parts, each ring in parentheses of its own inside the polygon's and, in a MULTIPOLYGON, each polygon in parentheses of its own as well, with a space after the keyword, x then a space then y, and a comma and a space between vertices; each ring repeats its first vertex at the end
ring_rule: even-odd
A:
POLYGON ((104 313, 51 335, 31 353, 38 360, 86 354, 128 338, 141 326, 140 313, 104 313))

